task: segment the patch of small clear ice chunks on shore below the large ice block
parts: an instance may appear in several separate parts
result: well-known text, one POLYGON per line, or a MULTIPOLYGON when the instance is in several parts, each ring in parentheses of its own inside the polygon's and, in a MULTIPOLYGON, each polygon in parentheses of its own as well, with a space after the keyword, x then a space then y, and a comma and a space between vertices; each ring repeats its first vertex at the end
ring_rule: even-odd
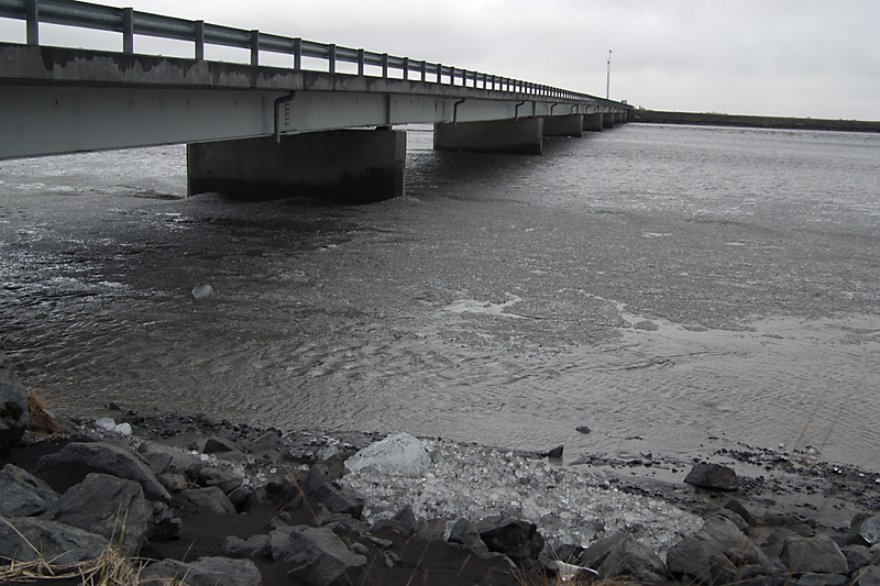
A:
POLYGON ((418 474, 362 467, 342 478, 366 496, 366 519, 391 517, 407 505, 425 519, 504 513, 536 523, 551 548, 587 546, 627 531, 658 553, 702 524, 692 513, 618 491, 587 472, 480 445, 422 443, 431 462, 418 474))

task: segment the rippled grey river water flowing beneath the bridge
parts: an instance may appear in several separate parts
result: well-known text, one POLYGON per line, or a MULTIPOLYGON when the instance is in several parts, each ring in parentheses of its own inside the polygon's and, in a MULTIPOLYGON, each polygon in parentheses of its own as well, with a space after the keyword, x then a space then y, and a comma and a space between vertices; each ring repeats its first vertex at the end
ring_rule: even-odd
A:
POLYGON ((63 412, 880 469, 880 135, 408 136, 407 196, 349 208, 184 198, 182 146, 0 162, 22 378, 63 412))

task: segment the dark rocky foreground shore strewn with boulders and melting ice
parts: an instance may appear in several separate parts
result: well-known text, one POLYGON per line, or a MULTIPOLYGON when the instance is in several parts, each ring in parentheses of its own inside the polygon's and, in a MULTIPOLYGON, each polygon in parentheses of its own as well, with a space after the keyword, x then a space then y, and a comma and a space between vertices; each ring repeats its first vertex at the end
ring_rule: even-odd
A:
MULTIPOLYGON (((4 373, 6 392, 14 385, 4 373)), ((34 577, 77 567, 108 548, 143 564, 143 583, 194 586, 596 576, 880 584, 877 475, 811 462, 809 450, 737 446, 722 454, 729 466, 650 455, 563 463, 441 439, 284 433, 116 405, 44 435, 10 431, 8 399, 0 576, 12 584, 24 577, 18 568, 34 577), (848 522, 828 522, 842 517, 848 522)))

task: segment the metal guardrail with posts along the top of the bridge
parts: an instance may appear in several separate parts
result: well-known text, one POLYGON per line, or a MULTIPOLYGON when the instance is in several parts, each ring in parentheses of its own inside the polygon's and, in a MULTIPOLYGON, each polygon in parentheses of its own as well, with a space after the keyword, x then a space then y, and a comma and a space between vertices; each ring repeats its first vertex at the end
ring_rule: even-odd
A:
POLYGON ((61 24, 79 29, 110 31, 122 34, 122 52, 134 53, 134 36, 154 36, 194 43, 194 56, 205 59, 205 45, 244 48, 251 52, 251 65, 260 65, 260 53, 279 53, 293 56, 292 68, 302 70, 302 58, 311 57, 327 62, 327 70, 337 73, 337 64, 355 64, 358 75, 365 75, 365 67, 380 67, 382 77, 399 71, 405 80, 430 84, 472 87, 487 91, 513 92, 529 97, 553 98, 570 101, 601 103, 605 100, 561 88, 522 81, 509 77, 462 69, 440 63, 397 57, 387 53, 374 53, 334 44, 316 43, 302 38, 279 36, 233 29, 205 21, 190 21, 139 12, 131 8, 116 8, 77 0, 0 0, 0 18, 25 21, 26 43, 40 44, 40 23, 61 24), (429 79, 429 76, 432 79, 429 79))

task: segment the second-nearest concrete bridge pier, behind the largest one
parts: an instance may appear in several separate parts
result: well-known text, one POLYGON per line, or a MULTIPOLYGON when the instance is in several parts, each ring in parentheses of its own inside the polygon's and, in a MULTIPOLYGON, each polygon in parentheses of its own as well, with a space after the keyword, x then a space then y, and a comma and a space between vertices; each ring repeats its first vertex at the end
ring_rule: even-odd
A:
POLYGON ((543 120, 494 120, 433 125, 437 151, 472 151, 540 155, 543 147, 543 120))

